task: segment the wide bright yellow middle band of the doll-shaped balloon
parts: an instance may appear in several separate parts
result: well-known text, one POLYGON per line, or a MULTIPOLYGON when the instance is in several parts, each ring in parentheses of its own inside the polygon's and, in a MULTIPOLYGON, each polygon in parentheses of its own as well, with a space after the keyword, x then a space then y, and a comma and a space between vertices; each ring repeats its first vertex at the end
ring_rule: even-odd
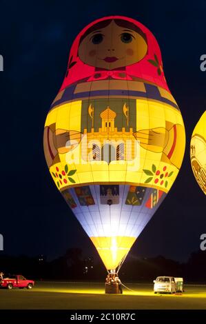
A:
POLYGON ((128 117, 124 109, 129 110, 130 106, 123 101, 122 116, 118 116, 115 105, 119 108, 119 99, 73 101, 49 112, 45 121, 45 155, 59 190, 79 184, 112 182, 149 185, 168 192, 185 148, 181 113, 165 103, 131 100, 133 111, 128 117), (112 105, 107 105, 111 101, 113 110, 112 105), (127 128, 121 119, 128 123, 127 128), (134 127, 130 126, 130 119, 134 127), (118 154, 122 156, 116 159, 118 154), (158 179, 152 172, 153 165, 161 171, 167 168, 167 179, 165 176, 158 179), (56 170, 63 172, 65 168, 72 174, 70 179, 68 172, 59 179, 56 170))

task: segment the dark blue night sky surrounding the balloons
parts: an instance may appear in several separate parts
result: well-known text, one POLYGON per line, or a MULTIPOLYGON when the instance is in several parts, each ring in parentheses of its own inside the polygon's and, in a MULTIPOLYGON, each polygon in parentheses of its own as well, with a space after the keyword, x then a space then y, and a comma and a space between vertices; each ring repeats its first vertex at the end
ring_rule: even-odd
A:
POLYGON ((4 253, 45 254, 52 259, 68 247, 81 247, 85 256, 97 256, 49 174, 43 126, 76 35, 94 19, 122 14, 141 21, 158 40, 165 77, 181 108, 187 136, 185 158, 172 190, 130 253, 186 261, 206 232, 206 197, 189 160, 192 131, 206 109, 206 72, 200 71, 200 55, 206 54, 205 1, 1 0, 0 10, 4 253))

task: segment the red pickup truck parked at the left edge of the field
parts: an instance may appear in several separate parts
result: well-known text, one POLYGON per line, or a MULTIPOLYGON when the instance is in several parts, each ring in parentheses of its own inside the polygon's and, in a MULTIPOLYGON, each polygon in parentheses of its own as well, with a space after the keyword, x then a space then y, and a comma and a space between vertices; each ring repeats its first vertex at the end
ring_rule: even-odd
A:
POLYGON ((3 278, 0 280, 0 287, 6 287, 7 289, 12 288, 27 288, 32 289, 34 281, 27 280, 21 274, 14 274, 9 278, 3 278))

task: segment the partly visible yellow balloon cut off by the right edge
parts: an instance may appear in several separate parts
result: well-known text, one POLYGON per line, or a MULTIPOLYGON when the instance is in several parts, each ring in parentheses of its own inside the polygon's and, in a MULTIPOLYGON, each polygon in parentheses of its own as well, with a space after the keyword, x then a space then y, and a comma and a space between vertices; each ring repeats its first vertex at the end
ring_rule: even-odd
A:
POLYGON ((192 133, 190 159, 196 181, 206 194, 206 111, 192 133))

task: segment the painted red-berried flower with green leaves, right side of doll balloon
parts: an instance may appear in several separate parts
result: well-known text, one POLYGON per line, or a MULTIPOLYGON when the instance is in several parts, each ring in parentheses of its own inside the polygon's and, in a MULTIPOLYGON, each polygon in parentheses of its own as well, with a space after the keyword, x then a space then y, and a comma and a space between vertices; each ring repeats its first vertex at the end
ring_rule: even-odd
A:
POLYGON ((152 170, 143 170, 149 178, 145 180, 145 183, 150 183, 152 180, 157 185, 164 185, 167 188, 168 181, 167 179, 172 176, 173 171, 168 172, 167 167, 164 166, 162 170, 157 170, 156 165, 152 164, 152 170))

